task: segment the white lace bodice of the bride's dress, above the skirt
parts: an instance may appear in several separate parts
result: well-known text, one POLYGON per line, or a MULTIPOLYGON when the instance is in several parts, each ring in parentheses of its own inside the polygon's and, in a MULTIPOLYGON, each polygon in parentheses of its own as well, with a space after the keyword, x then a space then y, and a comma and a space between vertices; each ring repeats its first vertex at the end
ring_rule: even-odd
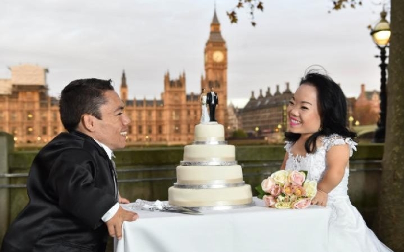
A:
MULTIPOLYGON (((348 144, 350 156, 356 151, 357 143, 351 138, 344 138, 337 134, 321 137, 321 145, 317 146, 314 153, 306 154, 306 156, 294 156, 290 151, 293 143, 286 142, 285 149, 289 154, 286 161, 286 170, 308 171, 307 179, 319 182, 327 169, 326 153, 334 145, 348 144)), ((329 198, 347 196, 348 195, 348 177, 349 164, 345 167, 345 174, 341 182, 329 193, 329 198)))

